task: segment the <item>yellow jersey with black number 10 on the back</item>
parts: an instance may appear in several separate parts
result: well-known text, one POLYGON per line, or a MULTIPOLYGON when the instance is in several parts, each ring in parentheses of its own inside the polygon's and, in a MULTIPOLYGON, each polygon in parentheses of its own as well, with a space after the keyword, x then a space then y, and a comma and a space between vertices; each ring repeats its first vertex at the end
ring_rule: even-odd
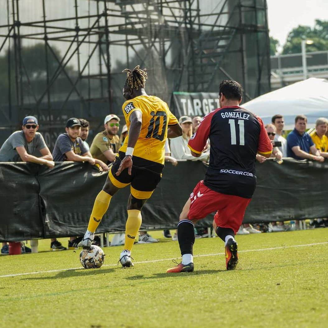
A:
MULTIPOLYGON (((134 111, 142 113, 142 126, 134 146, 133 156, 164 164, 164 145, 169 125, 178 123, 166 102, 155 96, 138 96, 127 100, 122 106, 128 131, 129 117, 134 111)), ((121 152, 126 151, 129 134, 125 138, 121 152)))

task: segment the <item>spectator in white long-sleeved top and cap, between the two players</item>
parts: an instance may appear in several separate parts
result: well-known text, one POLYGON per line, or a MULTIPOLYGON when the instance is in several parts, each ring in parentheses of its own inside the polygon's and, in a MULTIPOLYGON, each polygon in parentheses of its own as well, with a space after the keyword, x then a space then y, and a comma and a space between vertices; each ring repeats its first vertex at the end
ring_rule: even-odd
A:
POLYGON ((207 161, 209 158, 208 153, 202 153, 199 157, 194 157, 188 148, 188 141, 192 136, 192 119, 189 116, 181 116, 179 123, 182 127, 182 135, 170 140, 172 157, 192 161, 207 161))

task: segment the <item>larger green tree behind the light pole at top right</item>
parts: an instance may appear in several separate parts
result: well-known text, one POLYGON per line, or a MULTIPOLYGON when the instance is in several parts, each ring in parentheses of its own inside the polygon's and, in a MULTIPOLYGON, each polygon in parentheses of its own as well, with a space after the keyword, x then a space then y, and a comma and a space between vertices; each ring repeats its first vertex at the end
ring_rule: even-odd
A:
POLYGON ((300 53, 301 41, 311 39, 313 44, 306 46, 306 51, 328 50, 328 21, 316 19, 313 28, 299 25, 289 32, 287 41, 283 46, 282 54, 300 53))

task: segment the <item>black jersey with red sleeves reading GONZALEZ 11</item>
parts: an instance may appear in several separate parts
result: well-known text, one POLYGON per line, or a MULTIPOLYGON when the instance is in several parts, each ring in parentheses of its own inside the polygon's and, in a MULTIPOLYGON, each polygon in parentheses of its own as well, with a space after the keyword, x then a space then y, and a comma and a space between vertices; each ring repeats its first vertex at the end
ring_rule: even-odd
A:
POLYGON ((202 119, 188 147, 200 154, 208 138, 210 164, 204 184, 222 194, 252 198, 256 153, 272 152, 261 118, 239 106, 218 108, 202 119))

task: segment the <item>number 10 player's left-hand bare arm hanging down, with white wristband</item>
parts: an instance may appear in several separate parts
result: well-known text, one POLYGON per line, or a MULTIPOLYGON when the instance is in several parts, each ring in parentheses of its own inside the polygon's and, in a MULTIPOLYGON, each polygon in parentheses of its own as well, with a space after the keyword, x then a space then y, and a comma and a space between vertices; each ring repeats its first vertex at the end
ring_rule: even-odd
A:
MULTIPOLYGON (((129 129, 129 140, 128 140, 128 147, 127 148, 134 148, 135 144, 137 143, 137 140, 139 138, 139 134, 141 131, 141 126, 142 126, 142 113, 139 111, 134 111, 131 113, 130 118, 130 129, 129 129)), ((132 170, 132 155, 126 155, 117 172, 116 175, 120 175, 121 172, 124 169, 128 169, 129 175, 131 175, 131 170, 132 170)))

